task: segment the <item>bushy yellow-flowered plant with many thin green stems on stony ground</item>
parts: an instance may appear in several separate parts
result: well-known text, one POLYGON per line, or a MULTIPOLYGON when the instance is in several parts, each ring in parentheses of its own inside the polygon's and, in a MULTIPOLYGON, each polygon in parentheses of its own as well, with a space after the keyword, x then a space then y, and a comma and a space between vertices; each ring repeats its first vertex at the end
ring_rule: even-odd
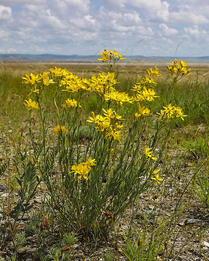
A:
MULTIPOLYGON (((130 97, 128 93, 115 89, 117 80, 114 79, 112 68, 118 60, 123 59, 122 55, 111 50, 104 50, 100 55, 100 60, 108 65, 108 74, 100 73, 91 79, 80 79, 71 72, 55 67, 50 69, 51 77, 47 72, 43 75, 26 75, 24 78, 24 82, 31 85, 31 92, 42 115, 44 164, 43 168, 39 166, 40 174, 49 189, 51 203, 57 210, 52 208, 52 211, 59 218, 63 230, 67 222, 87 231, 96 219, 98 224, 104 224, 106 219, 101 210, 112 212, 115 220, 140 193, 152 186, 152 175, 147 174, 153 173, 162 156, 162 153, 158 158, 155 156, 155 148, 160 132, 165 127, 164 121, 156 122, 150 138, 142 132, 147 128, 146 119, 151 114, 147 103, 158 97, 154 90, 155 79, 160 76, 158 69, 147 70, 147 76, 133 87, 136 93, 130 97), (51 135, 57 135, 57 145, 45 149, 42 92, 49 84, 54 86, 54 104, 59 122, 50 132, 51 135), (60 87, 62 93, 67 94, 63 98, 62 112, 56 105, 60 87), (85 148, 81 149, 82 98, 89 92, 97 94, 97 106, 87 120, 90 122, 89 139, 85 148), (120 112, 124 106, 134 106, 134 103, 137 112, 133 115, 133 124, 124 131, 125 119, 120 112)), ((146 132, 150 130, 146 129, 146 132)))

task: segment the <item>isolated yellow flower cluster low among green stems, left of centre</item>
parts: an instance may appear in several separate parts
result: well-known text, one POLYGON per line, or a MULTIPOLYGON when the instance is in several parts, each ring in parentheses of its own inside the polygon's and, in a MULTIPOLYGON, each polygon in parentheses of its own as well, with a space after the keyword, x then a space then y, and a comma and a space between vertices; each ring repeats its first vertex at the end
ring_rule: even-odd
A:
POLYGON ((90 166, 96 165, 95 163, 96 163, 95 159, 88 158, 87 162, 80 163, 78 165, 73 165, 71 167, 72 171, 70 173, 74 172, 75 175, 78 174, 79 175, 78 180, 80 180, 81 178, 88 180, 86 174, 88 174, 89 171, 91 170, 90 166))

